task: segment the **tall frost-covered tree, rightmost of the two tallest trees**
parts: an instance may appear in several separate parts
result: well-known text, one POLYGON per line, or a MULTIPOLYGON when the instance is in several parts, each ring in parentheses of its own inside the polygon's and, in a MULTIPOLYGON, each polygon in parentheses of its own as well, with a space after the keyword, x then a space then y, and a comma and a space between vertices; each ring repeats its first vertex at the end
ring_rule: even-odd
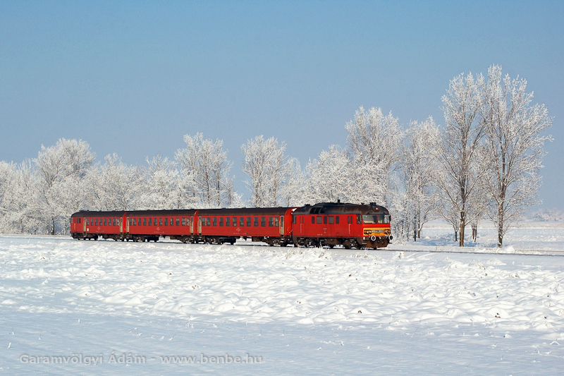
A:
POLYGON ((527 81, 512 80, 509 75, 502 78, 501 66, 488 69, 488 81, 482 87, 479 112, 485 135, 484 183, 501 247, 508 226, 538 203, 544 142, 551 140, 541 133, 551 126, 552 119, 544 104, 531 105, 533 93, 526 92, 527 81))

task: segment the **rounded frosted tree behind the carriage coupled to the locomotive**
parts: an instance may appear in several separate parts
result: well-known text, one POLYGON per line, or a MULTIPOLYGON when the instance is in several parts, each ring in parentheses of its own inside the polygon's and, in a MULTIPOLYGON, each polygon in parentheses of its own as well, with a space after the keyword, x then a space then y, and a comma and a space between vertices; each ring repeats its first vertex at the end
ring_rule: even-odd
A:
POLYGON ((262 135, 241 146, 243 172, 250 178, 245 183, 251 192, 253 207, 276 207, 283 201, 291 167, 285 150, 284 142, 274 137, 264 140, 262 135))

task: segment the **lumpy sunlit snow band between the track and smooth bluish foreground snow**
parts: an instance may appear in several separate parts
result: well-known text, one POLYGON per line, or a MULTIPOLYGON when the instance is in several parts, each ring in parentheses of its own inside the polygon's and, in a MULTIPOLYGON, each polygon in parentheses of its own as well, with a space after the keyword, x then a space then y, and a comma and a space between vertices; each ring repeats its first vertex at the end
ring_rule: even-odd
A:
POLYGON ((508 266, 494 257, 461 262, 448 255, 357 256, 179 243, 10 244, 0 251, 6 260, 0 303, 31 312, 72 308, 257 323, 564 324, 564 271, 558 269, 508 266))

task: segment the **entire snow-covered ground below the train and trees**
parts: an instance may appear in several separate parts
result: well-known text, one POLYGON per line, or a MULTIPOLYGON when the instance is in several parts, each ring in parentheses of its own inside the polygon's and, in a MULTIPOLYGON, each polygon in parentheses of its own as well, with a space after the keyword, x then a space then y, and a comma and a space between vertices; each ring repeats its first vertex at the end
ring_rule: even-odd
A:
POLYGON ((465 248, 482 253, 436 253, 451 233, 367 251, 0 236, 0 372, 560 372, 564 257, 518 253, 564 250, 564 227, 510 230, 509 255, 489 228, 465 248))

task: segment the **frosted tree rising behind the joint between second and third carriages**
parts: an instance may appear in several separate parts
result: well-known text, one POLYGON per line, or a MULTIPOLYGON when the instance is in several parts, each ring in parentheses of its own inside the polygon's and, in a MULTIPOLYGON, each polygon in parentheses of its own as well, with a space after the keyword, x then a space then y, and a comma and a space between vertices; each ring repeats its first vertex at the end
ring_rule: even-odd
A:
POLYGON ((192 181, 194 198, 205 207, 230 206, 233 197, 233 163, 227 159, 222 140, 204 139, 202 133, 185 135, 185 149, 176 152, 185 182, 192 181))

